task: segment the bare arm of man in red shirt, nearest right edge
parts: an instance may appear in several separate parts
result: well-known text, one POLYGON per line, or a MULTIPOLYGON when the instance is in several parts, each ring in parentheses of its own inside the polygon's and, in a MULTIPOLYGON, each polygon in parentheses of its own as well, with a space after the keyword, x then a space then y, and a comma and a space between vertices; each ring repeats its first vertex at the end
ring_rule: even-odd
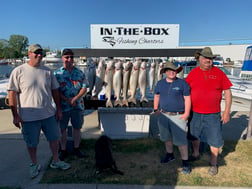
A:
POLYGON ((230 110, 232 104, 232 93, 231 89, 224 90, 224 97, 225 97, 225 109, 221 116, 222 123, 225 124, 230 120, 230 110))

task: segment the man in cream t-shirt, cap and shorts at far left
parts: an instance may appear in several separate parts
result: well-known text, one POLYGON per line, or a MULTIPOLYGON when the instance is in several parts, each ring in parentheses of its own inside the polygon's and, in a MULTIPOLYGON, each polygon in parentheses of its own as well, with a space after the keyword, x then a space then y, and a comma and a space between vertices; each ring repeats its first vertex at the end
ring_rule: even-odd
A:
POLYGON ((35 178, 40 170, 40 165, 37 162, 37 145, 41 130, 49 141, 53 156, 50 167, 62 170, 71 167, 58 158, 60 130, 57 121, 62 118, 59 84, 53 72, 41 65, 42 55, 43 49, 39 44, 30 45, 28 49, 29 62, 12 71, 8 85, 13 124, 22 129, 31 158, 31 178, 35 178), (56 104, 56 114, 52 100, 56 104))

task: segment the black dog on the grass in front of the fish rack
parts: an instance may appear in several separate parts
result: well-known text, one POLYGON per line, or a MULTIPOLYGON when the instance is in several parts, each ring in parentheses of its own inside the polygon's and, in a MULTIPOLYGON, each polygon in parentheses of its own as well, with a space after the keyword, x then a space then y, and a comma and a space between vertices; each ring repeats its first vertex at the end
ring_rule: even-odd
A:
POLYGON ((95 160, 96 160, 96 172, 100 174, 105 169, 110 169, 113 173, 123 175, 123 172, 119 171, 116 166, 116 162, 112 155, 112 140, 102 135, 95 143, 95 160))

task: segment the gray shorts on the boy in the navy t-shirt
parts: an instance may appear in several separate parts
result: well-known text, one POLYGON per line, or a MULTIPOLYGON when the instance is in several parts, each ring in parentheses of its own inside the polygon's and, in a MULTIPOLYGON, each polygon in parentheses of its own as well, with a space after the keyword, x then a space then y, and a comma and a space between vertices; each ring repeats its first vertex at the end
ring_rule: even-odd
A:
POLYGON ((180 116, 159 114, 157 124, 161 141, 172 140, 176 146, 187 145, 187 121, 179 119, 180 116))

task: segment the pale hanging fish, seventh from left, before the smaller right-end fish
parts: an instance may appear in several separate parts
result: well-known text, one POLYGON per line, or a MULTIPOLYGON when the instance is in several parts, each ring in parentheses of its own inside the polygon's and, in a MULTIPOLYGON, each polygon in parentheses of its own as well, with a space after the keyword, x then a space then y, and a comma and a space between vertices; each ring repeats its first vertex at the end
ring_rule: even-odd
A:
POLYGON ((146 87, 147 87, 147 63, 142 62, 140 69, 139 69, 139 76, 138 76, 138 86, 140 88, 140 102, 148 102, 148 99, 146 98, 146 87))

